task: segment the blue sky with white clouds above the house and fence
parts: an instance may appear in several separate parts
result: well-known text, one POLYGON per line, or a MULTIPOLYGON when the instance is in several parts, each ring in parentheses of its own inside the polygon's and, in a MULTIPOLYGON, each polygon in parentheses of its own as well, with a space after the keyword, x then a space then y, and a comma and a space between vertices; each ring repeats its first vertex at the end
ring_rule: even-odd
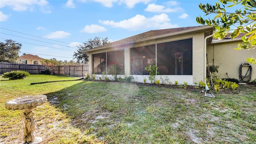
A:
POLYGON ((76 45, 95 36, 114 42, 149 30, 199 26, 200 2, 217 0, 0 0, 0 41, 22 43, 21 54, 69 61, 76 45))

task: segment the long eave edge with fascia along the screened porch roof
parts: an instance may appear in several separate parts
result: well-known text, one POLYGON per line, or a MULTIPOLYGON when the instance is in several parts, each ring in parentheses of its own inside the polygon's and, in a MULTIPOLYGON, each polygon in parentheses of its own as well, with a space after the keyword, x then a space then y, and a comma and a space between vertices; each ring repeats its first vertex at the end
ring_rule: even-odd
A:
MULTIPOLYGON (((158 39, 158 38, 164 38, 164 37, 168 37, 168 36, 175 36, 175 35, 185 34, 185 33, 189 33, 189 32, 196 32, 196 31, 200 31, 200 30, 206 30, 206 29, 209 29, 209 28, 212 28, 212 26, 201 26, 201 27, 198 27, 198 28, 191 28, 191 29, 182 30, 182 31, 179 31, 179 32, 172 32, 172 33, 163 34, 163 35, 160 35, 160 36, 153 36, 153 37, 150 37, 150 38, 144 38, 142 40, 136 40, 134 42, 126 42, 126 43, 123 43, 123 44, 111 45, 111 47, 122 46, 122 45, 127 45, 127 44, 134 44, 136 42, 154 40, 154 39, 158 39)), ((105 49, 105 48, 110 48, 110 46, 103 46, 103 47, 100 47, 100 48, 92 48, 90 50, 84 50, 83 52, 91 52, 91 51, 95 51, 95 50, 102 50, 102 49, 105 49)))

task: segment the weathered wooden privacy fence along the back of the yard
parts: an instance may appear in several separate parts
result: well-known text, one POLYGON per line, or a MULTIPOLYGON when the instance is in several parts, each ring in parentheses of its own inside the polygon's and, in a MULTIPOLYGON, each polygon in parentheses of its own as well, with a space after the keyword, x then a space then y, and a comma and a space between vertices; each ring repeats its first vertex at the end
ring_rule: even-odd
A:
MULTIPOLYGON (((34 64, 15 64, 15 63, 2 63, 0 62, 0 74, 14 70, 24 70, 30 74, 50 74, 49 70, 43 65, 34 64)), ((84 76, 89 72, 88 64, 83 65, 61 65, 56 66, 54 74, 65 76, 84 76)))

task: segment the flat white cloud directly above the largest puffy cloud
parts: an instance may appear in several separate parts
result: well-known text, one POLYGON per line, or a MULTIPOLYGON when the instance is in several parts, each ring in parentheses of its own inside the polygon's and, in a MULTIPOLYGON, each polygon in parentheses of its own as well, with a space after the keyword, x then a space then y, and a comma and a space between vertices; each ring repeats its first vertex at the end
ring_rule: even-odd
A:
POLYGON ((162 5, 156 5, 156 4, 149 4, 148 7, 145 9, 147 12, 177 12, 178 10, 181 10, 182 8, 165 8, 165 6, 162 5))

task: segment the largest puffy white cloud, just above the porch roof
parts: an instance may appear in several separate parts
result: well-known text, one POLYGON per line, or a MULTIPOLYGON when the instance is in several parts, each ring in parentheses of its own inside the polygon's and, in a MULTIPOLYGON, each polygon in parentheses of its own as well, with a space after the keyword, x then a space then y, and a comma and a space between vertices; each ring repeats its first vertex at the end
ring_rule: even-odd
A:
POLYGON ((114 22, 113 20, 100 20, 99 22, 104 25, 110 25, 115 28, 124 28, 128 30, 145 30, 148 28, 165 29, 178 27, 177 24, 170 23, 170 18, 168 18, 167 14, 155 15, 151 18, 146 18, 143 15, 137 14, 128 20, 122 20, 120 22, 114 22))

